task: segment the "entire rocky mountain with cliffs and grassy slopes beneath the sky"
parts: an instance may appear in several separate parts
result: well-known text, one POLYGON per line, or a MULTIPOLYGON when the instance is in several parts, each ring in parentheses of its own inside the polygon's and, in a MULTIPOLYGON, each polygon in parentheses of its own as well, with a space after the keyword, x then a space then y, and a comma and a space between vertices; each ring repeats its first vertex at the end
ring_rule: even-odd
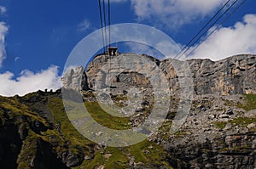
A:
POLYGON ((137 127, 152 113, 154 87, 158 87, 152 82, 165 76, 171 103, 157 132, 139 144, 113 148, 91 142, 73 127, 64 110, 61 90, 0 97, 0 168, 256 168, 254 55, 217 62, 188 60, 194 96, 186 121, 175 133, 169 131, 181 102, 181 81, 177 75, 184 76, 175 67, 183 63, 133 56, 143 59, 133 63, 126 57, 125 63, 118 63, 109 56, 98 55, 86 71, 83 67, 67 71, 62 90, 69 91, 70 98, 81 93, 83 104, 97 123, 124 130, 137 127), (141 63, 145 60, 148 65, 141 63), (137 67, 127 69, 126 63, 130 63, 130 68, 134 64, 137 67), (163 73, 159 78, 157 67, 163 73), (115 70, 119 73, 114 74, 115 70), (155 78, 150 79, 148 72, 155 78), (97 83, 102 77, 105 80, 97 83), (111 99, 121 112, 129 113, 125 108, 135 105, 135 114, 109 115, 97 102, 95 86, 107 92, 106 88, 110 88, 111 99), (143 101, 132 102, 136 95, 141 95, 143 101))

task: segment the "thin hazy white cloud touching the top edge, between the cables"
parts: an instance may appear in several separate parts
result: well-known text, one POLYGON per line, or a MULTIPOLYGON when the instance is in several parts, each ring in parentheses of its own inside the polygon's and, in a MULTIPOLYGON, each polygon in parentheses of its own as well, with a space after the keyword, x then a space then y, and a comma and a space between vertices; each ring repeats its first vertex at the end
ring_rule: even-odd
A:
POLYGON ((151 20, 172 28, 189 24, 218 8, 218 0, 131 0, 139 20, 151 20))

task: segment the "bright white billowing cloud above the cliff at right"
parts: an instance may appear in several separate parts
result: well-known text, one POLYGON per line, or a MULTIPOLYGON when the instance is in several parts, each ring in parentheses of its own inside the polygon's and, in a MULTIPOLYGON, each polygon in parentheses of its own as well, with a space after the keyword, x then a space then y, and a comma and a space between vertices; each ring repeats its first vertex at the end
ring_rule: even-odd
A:
POLYGON ((201 43, 193 58, 218 60, 236 54, 256 54, 256 14, 245 15, 232 27, 220 28, 201 43))

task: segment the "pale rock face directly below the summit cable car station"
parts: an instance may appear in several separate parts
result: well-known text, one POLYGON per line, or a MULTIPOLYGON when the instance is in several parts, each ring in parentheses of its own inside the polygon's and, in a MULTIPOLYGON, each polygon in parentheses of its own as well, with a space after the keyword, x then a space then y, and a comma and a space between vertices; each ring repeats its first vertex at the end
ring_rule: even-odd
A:
MULTIPOLYGON (((87 67, 88 85, 93 89, 96 81, 102 81, 106 86, 114 83, 119 83, 117 84, 119 86, 122 85, 120 82, 123 82, 123 85, 147 88, 150 86, 150 82, 145 76, 145 72, 152 72, 153 70, 150 70, 152 66, 143 65, 141 62, 149 62, 151 59, 153 58, 137 54, 119 54, 118 56, 111 56, 111 59, 110 56, 99 55, 87 67), (141 59, 134 59, 137 56, 141 59), (133 67, 136 69, 132 70, 133 67), (108 80, 111 82, 107 82, 108 80)), ((154 59, 154 61, 156 60, 154 59)))

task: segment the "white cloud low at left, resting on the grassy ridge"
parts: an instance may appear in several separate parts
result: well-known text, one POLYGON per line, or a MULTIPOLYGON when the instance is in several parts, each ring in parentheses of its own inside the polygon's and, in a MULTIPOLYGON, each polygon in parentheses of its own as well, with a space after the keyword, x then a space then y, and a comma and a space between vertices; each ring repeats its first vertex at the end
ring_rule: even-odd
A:
POLYGON ((0 74, 0 95, 14 96, 15 94, 25 95, 34 91, 58 89, 61 87, 61 77, 58 76, 58 67, 50 66, 47 70, 33 73, 30 70, 23 70, 16 79, 14 74, 7 71, 0 74))

